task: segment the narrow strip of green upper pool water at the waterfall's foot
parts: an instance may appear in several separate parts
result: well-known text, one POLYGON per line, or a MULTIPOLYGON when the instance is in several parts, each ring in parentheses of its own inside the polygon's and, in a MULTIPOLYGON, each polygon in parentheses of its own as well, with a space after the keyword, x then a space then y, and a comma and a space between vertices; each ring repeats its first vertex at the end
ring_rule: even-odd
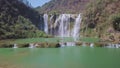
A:
MULTIPOLYGON (((99 38, 92 38, 92 37, 82 37, 78 38, 78 41, 82 42, 99 42, 99 38)), ((0 44, 28 44, 28 43, 40 43, 40 42, 47 42, 47 43, 58 43, 58 42, 74 42, 73 37, 55 37, 55 38, 26 38, 26 39, 14 39, 14 40, 1 40, 0 44)))

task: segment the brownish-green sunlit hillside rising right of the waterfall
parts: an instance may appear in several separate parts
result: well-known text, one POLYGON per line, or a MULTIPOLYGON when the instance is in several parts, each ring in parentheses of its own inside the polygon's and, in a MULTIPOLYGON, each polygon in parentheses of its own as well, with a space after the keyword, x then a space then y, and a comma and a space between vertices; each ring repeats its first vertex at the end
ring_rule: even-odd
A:
POLYGON ((102 41, 120 42, 120 0, 96 0, 83 13, 81 34, 102 41))

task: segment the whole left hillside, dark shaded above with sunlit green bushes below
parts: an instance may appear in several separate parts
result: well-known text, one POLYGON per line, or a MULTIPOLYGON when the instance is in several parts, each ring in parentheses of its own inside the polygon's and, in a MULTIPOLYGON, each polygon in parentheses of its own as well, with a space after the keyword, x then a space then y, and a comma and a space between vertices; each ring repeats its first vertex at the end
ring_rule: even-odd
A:
MULTIPOLYGON (((0 39, 40 37, 40 15, 24 0, 0 0, 0 39)), ((42 34, 40 34, 42 33, 42 34)))

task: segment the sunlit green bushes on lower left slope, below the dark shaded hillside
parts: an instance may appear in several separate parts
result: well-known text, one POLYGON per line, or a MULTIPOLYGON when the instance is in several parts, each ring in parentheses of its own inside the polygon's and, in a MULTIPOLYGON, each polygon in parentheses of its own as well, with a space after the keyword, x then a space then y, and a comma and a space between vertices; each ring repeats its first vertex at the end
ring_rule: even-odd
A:
POLYGON ((18 16, 17 21, 13 25, 9 23, 0 23, 0 38, 1 39, 17 39, 17 38, 33 38, 33 37, 44 37, 46 34, 39 31, 29 19, 22 16, 18 16))

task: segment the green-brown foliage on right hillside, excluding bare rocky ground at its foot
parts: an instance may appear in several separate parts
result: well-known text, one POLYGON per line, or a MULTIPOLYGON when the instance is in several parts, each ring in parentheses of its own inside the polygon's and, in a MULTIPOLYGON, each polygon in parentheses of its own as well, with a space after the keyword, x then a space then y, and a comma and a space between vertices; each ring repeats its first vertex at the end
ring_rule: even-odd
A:
POLYGON ((109 28, 119 31, 120 0, 93 0, 83 13, 81 31, 89 36, 102 36, 109 28), (113 16, 116 17, 113 17, 113 16), (110 17, 110 18, 109 18, 110 17), (116 20, 117 19, 117 20, 116 20), (88 29, 91 29, 90 33, 88 29))

